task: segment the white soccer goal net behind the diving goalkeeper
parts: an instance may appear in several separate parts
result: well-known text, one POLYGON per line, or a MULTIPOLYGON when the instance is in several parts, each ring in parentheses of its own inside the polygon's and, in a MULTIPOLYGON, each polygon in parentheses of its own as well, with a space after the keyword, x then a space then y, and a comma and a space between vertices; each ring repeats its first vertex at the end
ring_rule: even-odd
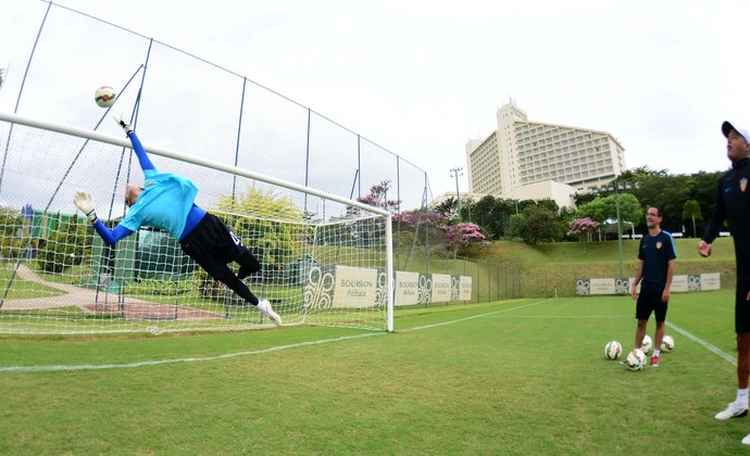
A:
MULTIPOLYGON (((139 137, 157 168, 192 180, 196 204, 220 217, 260 259, 262 270, 245 282, 272 303, 285 326, 392 330, 388 212, 139 137)), ((108 226, 125 215, 125 186, 142 186, 143 176, 124 135, 0 112, 0 332, 271 325, 168 233, 141 227, 108 246, 77 212, 73 195, 86 190, 108 226)))

